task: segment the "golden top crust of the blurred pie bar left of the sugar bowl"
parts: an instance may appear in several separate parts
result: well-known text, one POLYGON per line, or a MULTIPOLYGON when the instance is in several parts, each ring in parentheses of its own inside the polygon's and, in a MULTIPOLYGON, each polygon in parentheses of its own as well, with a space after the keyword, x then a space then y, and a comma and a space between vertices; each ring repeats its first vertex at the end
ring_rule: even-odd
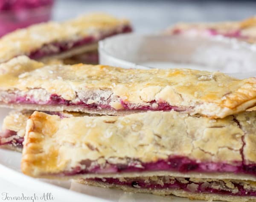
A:
POLYGON ((18 55, 29 55, 49 44, 70 43, 87 37, 93 37, 94 41, 97 41, 102 36, 121 33, 125 27, 131 29, 128 20, 117 19, 104 13, 82 15, 61 23, 32 25, 0 39, 0 62, 18 55))

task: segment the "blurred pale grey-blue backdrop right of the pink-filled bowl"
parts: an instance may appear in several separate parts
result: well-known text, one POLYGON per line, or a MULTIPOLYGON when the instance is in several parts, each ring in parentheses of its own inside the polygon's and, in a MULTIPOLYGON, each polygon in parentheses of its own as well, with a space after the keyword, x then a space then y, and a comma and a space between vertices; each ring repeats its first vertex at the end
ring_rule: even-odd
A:
POLYGON ((56 0, 53 19, 109 12, 131 20, 137 32, 157 32, 178 21, 242 20, 256 15, 256 0, 56 0))

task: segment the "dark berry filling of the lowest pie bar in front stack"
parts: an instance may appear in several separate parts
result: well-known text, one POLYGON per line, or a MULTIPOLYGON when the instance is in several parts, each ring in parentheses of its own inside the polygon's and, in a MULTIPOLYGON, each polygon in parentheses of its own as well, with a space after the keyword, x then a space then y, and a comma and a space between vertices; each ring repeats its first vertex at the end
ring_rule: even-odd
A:
POLYGON ((180 189, 193 193, 215 193, 227 194, 233 196, 256 196, 256 190, 250 189, 250 184, 244 182, 226 182, 205 181, 193 182, 189 178, 173 178, 173 177, 152 177, 142 178, 125 178, 120 181, 118 178, 93 178, 90 181, 108 183, 110 185, 125 185, 133 188, 144 189, 180 189), (232 185, 230 188, 230 185, 232 185), (244 186, 245 185, 245 186, 244 186), (246 188, 249 187, 249 188, 246 188))

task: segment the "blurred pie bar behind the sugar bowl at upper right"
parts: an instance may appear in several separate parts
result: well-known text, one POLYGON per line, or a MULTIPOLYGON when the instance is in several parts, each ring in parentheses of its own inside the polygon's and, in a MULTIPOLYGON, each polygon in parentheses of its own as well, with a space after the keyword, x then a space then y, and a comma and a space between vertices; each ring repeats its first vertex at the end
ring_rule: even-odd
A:
POLYGON ((220 23, 178 23, 166 29, 166 34, 186 36, 216 36, 237 38, 249 43, 256 42, 256 17, 242 21, 220 23))

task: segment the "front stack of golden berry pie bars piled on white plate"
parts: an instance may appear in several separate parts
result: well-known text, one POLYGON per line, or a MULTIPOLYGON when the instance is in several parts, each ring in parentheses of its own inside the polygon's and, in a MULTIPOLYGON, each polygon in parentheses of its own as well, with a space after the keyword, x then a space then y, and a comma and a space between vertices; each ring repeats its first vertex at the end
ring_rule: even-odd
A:
POLYGON ((0 105, 23 110, 5 118, 0 144, 23 147, 26 175, 256 201, 256 112, 245 111, 256 105, 256 78, 20 56, 0 64, 0 105))

